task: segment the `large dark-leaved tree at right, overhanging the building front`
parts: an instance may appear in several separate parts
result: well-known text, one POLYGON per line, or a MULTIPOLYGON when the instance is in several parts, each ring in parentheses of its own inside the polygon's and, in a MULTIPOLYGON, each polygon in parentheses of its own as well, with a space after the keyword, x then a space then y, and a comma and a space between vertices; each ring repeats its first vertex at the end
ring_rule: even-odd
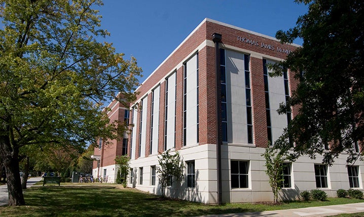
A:
POLYGON ((357 142, 364 141, 364 13, 357 0, 297 0, 307 4, 307 14, 297 26, 279 30, 282 43, 303 39, 303 45, 286 60, 272 66, 272 76, 289 68, 299 81, 279 112, 293 107, 298 114, 287 127, 290 142, 275 148, 292 149, 289 159, 301 155, 315 158, 323 155, 323 163, 332 165, 343 152, 350 154, 347 163, 361 159, 357 142), (330 147, 328 152, 325 147, 330 147))

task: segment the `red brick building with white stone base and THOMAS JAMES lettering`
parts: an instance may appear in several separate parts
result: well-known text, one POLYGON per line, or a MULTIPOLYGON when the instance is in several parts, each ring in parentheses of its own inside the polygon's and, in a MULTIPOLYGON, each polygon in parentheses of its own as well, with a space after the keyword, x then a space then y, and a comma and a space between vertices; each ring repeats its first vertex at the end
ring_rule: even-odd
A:
MULTIPOLYGON (((267 63, 283 60, 296 48, 203 20, 136 90, 140 94, 130 106, 133 127, 124 139, 132 167, 129 187, 160 194, 157 156, 171 149, 185 163, 185 179, 168 187, 168 196, 203 203, 272 201, 261 154, 297 114, 297 108, 277 114, 297 81, 289 70, 269 77, 267 63)), ((118 103, 109 106, 113 118, 127 111, 118 103)), ((100 160, 94 176, 108 175, 114 182, 118 146, 95 149, 100 160)), ((332 167, 322 165, 321 157, 286 162, 280 197, 294 199, 316 188, 329 196, 338 189, 362 190, 362 162, 347 167, 346 157, 332 167)))

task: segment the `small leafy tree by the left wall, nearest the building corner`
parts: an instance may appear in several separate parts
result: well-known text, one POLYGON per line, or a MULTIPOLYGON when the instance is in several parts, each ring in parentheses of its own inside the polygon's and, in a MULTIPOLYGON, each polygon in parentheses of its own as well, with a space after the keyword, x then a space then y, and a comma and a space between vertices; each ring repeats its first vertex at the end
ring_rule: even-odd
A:
POLYGON ((179 152, 174 155, 169 154, 169 150, 158 156, 159 166, 156 168, 158 172, 159 184, 162 188, 162 197, 165 197, 165 189, 171 186, 173 178, 176 180, 183 179, 184 164, 180 159, 179 152))

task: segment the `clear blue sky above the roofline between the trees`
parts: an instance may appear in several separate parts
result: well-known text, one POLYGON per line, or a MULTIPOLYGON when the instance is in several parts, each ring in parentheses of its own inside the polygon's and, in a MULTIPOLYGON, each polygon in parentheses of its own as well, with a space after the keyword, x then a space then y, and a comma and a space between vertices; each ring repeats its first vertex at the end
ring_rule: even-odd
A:
POLYGON ((111 33, 105 41, 137 59, 141 83, 206 17, 274 37, 294 27, 307 6, 294 0, 104 0, 99 10, 101 28, 111 33))

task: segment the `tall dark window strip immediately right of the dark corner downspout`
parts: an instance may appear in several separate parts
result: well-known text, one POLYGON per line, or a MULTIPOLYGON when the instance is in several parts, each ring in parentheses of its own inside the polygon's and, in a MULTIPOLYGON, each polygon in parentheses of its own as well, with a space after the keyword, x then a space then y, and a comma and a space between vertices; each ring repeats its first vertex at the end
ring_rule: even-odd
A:
POLYGON ((221 120, 223 141, 228 141, 225 49, 220 49, 221 120))

